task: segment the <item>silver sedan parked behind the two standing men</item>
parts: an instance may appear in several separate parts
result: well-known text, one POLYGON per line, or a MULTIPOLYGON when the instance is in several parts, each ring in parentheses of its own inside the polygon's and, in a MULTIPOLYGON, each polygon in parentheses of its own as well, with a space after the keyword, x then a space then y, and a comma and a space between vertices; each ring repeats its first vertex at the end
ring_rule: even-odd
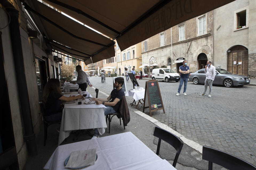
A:
MULTIPOLYGON (((205 69, 198 70, 189 75, 189 81, 194 84, 204 84, 205 78, 205 69)), ((224 85, 225 87, 244 86, 250 84, 250 78, 244 75, 232 74, 224 69, 216 69, 213 84, 224 85)))

